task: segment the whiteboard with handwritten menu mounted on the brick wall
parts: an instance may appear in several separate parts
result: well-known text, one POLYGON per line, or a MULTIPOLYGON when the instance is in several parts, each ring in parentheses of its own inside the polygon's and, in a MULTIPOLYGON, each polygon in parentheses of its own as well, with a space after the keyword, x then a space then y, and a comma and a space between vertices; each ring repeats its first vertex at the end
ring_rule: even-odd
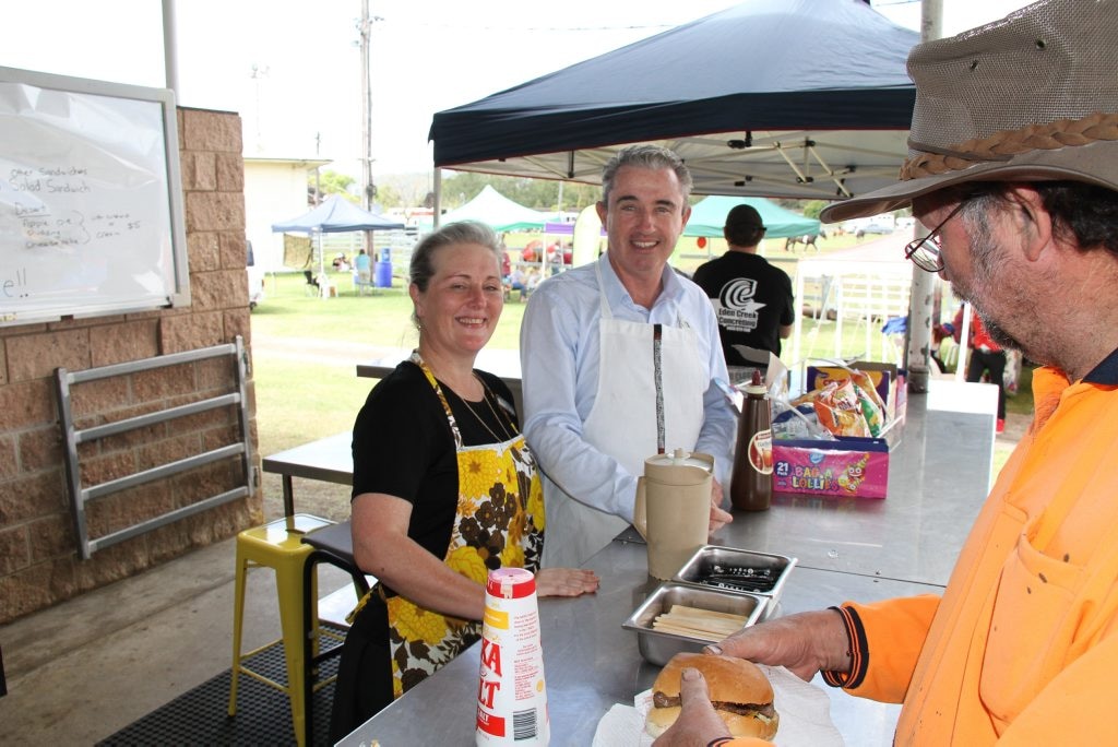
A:
POLYGON ((173 93, 0 67, 0 325, 189 303, 173 93))

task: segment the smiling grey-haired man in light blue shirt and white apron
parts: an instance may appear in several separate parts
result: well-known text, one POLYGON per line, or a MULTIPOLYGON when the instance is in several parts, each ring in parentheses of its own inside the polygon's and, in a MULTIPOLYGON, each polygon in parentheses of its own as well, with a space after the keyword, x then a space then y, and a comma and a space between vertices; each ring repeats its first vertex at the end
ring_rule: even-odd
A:
POLYGON ((710 530, 721 509, 737 420, 707 294, 667 259, 691 215, 678 155, 636 145, 601 178, 608 250, 549 278, 521 327, 524 434, 543 472, 543 565, 578 566, 633 521, 636 479, 659 450, 714 457, 710 530), (659 349, 659 363, 656 350, 659 349))

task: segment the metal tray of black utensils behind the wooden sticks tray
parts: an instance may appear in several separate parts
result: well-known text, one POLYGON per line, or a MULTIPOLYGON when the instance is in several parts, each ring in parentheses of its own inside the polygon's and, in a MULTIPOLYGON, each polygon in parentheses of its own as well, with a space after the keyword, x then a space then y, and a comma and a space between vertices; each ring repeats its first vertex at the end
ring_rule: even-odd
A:
POLYGON ((704 545, 683 564, 672 580, 769 597, 771 609, 780 599, 788 574, 795 566, 796 558, 784 555, 704 545))

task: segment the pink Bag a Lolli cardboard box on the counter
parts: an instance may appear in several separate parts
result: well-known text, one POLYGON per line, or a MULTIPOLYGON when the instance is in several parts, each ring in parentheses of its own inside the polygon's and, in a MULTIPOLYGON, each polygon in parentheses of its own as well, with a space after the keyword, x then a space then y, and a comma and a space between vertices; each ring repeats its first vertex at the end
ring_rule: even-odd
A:
POLYGON ((885 438, 773 441, 773 490, 778 493, 884 498, 888 489, 885 438))

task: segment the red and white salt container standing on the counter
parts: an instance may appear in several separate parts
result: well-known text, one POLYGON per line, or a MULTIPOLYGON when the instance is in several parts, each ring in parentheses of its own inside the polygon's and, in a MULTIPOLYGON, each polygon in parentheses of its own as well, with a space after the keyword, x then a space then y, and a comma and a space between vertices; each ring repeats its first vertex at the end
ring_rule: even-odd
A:
POLYGON ((536 577, 523 568, 492 570, 485 585, 476 744, 547 745, 549 737, 536 577))

